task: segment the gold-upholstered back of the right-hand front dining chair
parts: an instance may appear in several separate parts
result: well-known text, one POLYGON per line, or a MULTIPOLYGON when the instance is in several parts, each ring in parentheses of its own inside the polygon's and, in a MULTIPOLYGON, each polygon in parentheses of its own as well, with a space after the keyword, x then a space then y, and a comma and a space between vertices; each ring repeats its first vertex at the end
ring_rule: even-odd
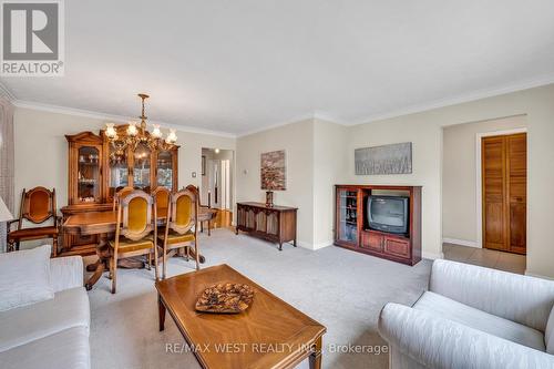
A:
POLYGON ((183 235, 196 228, 198 218, 198 196, 191 189, 181 189, 172 195, 168 228, 183 235))

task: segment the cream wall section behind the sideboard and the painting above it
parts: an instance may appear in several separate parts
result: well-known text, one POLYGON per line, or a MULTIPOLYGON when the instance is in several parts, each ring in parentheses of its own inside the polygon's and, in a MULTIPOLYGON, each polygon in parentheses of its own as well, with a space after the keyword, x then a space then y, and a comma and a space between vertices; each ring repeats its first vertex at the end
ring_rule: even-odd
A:
POLYGON ((314 121, 307 120, 237 139, 237 202, 265 203, 260 154, 285 150, 287 189, 275 191, 278 205, 298 207, 298 244, 314 247, 314 121))

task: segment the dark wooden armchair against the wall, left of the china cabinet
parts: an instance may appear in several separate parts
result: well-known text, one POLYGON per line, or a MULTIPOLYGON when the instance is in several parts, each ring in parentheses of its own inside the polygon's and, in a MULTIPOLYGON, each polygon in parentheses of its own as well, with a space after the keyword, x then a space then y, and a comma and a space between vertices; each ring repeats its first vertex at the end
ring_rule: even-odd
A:
POLYGON ((29 191, 23 188, 21 194, 21 204, 19 218, 8 222, 8 250, 19 250, 19 245, 24 240, 52 238, 52 256, 58 256, 58 236, 60 217, 55 208, 55 188, 34 187, 29 191), (49 226, 23 227, 23 221, 32 224, 44 224, 50 218, 53 224, 49 226), (16 230, 11 230, 11 225, 18 224, 16 230))

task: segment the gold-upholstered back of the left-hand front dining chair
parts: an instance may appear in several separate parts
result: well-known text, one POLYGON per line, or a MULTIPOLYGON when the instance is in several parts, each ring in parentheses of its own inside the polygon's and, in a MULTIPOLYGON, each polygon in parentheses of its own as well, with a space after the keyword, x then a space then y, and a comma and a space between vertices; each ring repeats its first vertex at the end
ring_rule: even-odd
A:
MULTIPOLYGON (((119 201, 116 234, 132 240, 146 237, 154 226, 152 224, 154 199, 141 189, 127 194, 119 201)), ((154 206, 154 216, 156 209, 154 206)))

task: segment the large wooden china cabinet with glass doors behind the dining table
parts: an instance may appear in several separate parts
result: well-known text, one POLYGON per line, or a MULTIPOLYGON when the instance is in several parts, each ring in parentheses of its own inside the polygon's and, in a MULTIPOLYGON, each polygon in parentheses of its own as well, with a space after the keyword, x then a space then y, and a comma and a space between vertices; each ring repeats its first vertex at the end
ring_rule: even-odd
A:
MULTIPOLYGON (((124 134, 127 125, 116 126, 124 134)), ((104 131, 100 134, 81 132, 65 135, 68 155, 68 206, 62 207, 63 222, 72 215, 86 212, 111 211, 113 195, 124 186, 151 192, 157 186, 177 189, 178 146, 171 151, 151 151, 138 144, 133 152, 115 155, 104 131)), ((59 255, 95 254, 99 236, 63 235, 59 255)))

